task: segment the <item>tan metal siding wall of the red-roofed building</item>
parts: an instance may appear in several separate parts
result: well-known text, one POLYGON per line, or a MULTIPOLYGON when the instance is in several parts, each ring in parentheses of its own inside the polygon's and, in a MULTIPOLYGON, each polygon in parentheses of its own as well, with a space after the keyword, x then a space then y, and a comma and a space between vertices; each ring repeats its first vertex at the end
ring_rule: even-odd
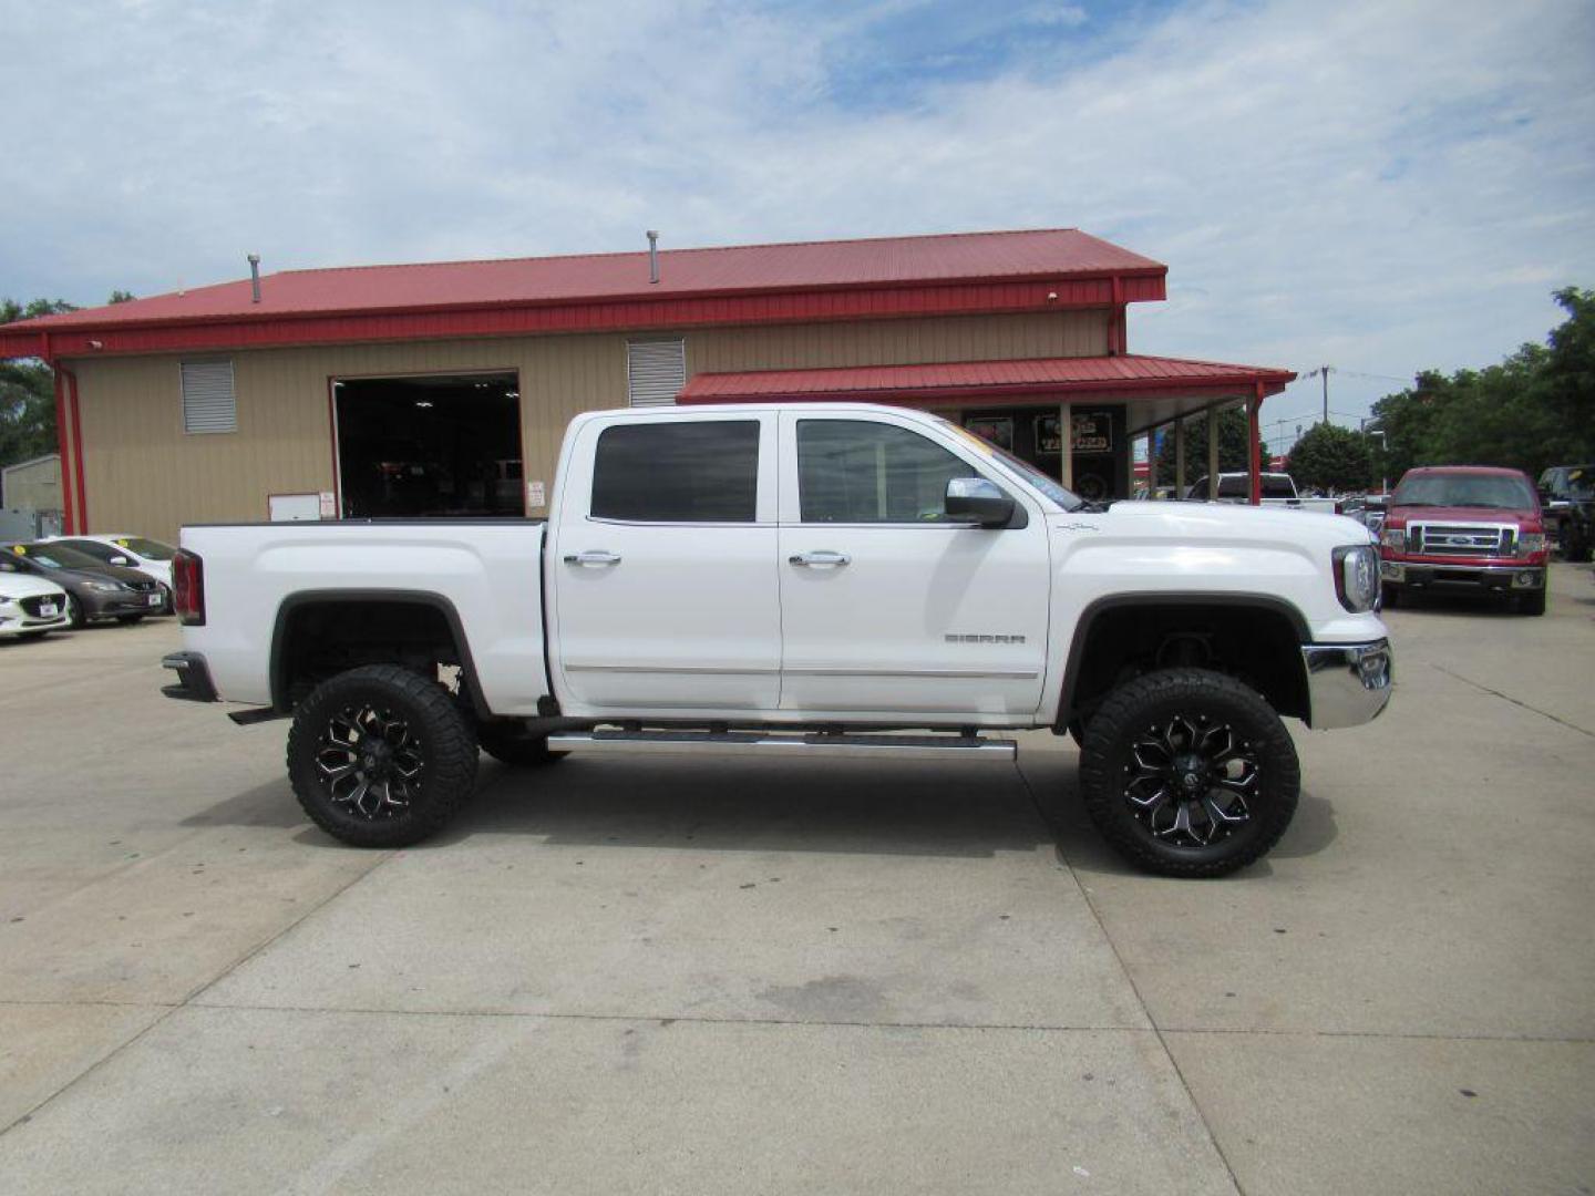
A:
MULTIPOLYGON (((694 329, 683 335, 687 376, 1065 357, 1107 352, 1107 313, 694 329)), ((624 333, 593 333, 238 351, 230 354, 238 432, 212 435, 183 434, 180 356, 73 362, 89 526, 172 539, 182 523, 263 520, 268 494, 332 490, 327 384, 356 375, 518 373, 525 477, 541 478, 552 491, 571 416, 625 407, 625 340, 624 333)))

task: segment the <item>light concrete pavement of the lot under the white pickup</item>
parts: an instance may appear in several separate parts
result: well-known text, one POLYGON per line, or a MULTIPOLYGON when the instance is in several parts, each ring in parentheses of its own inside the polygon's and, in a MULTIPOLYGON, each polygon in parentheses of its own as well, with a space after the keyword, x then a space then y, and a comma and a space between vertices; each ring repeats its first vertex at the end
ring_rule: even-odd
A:
POLYGON ((1279 848, 1019 767, 483 762, 341 848, 175 628, 0 646, 0 1190, 1589 1191, 1595 584, 1389 616, 1279 848))

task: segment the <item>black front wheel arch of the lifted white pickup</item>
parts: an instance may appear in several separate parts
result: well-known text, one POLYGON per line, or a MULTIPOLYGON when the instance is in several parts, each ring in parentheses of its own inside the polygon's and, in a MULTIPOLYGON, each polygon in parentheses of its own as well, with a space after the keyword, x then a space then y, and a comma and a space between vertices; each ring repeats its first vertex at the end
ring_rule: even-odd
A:
MULTIPOLYGON (((1270 593, 1147 590, 1104 595, 1088 603, 1080 612, 1064 663, 1054 727, 1064 730, 1078 716, 1081 706, 1089 708, 1104 692, 1094 670, 1102 668, 1102 655, 1113 659, 1113 654, 1101 652, 1097 646, 1104 641, 1093 636, 1110 633, 1115 624, 1136 619, 1155 627, 1163 625, 1160 620, 1168 625, 1188 624, 1195 627, 1196 620, 1217 620, 1220 625, 1231 627, 1241 619, 1250 622, 1258 616, 1265 620, 1260 627, 1270 628, 1262 635, 1262 641, 1274 649, 1289 641, 1292 647, 1290 659, 1271 670, 1271 684, 1263 687, 1263 692, 1281 714, 1305 719, 1309 710, 1309 695, 1298 649, 1311 643, 1311 628, 1294 603, 1270 593), (1097 651, 1099 655, 1093 657, 1093 651, 1097 651)), ((1128 657, 1128 654, 1121 654, 1121 657, 1128 657)))

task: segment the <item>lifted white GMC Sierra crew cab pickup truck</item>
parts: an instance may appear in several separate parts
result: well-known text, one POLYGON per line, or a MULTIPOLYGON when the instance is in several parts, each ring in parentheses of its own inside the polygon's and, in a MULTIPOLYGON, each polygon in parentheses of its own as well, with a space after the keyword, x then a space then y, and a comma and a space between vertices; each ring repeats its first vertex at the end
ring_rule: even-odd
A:
POLYGON ((919 411, 595 411, 547 523, 185 528, 164 692, 292 716, 293 791, 360 847, 442 826, 478 746, 1011 761, 990 732, 1045 727, 1126 858, 1219 875, 1295 810, 1281 716, 1389 700, 1378 576, 1351 520, 1094 509, 919 411))

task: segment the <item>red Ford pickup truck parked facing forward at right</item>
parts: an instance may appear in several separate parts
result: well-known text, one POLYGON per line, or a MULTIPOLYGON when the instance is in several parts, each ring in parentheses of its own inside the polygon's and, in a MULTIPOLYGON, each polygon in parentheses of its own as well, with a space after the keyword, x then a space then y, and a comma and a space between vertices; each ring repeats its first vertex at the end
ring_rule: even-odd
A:
POLYGON ((1412 590, 1502 590, 1546 612, 1546 523, 1526 474, 1485 466, 1408 469, 1380 531, 1384 604, 1412 590))

